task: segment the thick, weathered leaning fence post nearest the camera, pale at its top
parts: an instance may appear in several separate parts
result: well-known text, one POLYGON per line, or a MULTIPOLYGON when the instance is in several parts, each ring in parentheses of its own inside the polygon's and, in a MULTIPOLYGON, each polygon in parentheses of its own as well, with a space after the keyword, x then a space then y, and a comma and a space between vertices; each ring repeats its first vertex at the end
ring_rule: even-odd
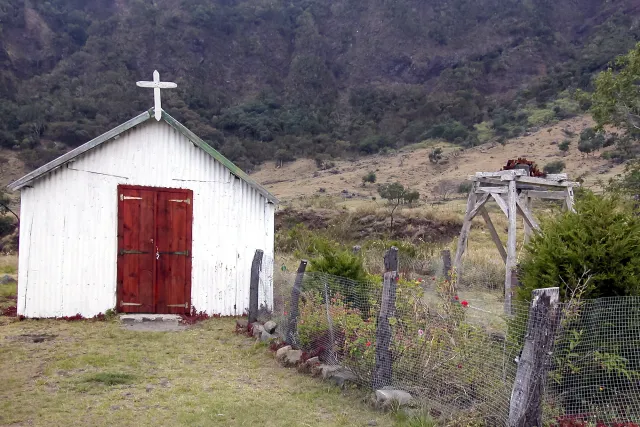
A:
POLYGON ((558 323, 559 288, 532 292, 527 331, 511 391, 509 427, 542 427, 546 365, 558 323))

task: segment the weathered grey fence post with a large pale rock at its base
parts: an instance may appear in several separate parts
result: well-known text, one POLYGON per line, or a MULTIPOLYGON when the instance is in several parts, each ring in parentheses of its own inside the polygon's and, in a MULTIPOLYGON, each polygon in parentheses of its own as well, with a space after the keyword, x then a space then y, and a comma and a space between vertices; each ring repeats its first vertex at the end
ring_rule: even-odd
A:
POLYGON ((382 282, 382 303, 376 328, 376 365, 371 385, 374 389, 391 385, 392 358, 391 325, 389 318, 395 316, 396 282, 398 280, 398 248, 392 247, 384 255, 385 273, 382 282))

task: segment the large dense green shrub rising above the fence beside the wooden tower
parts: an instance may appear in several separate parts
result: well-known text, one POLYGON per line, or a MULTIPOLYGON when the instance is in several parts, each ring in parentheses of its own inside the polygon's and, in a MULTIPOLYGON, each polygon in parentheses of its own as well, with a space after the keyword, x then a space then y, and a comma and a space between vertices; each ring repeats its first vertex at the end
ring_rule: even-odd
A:
POLYGON ((640 295, 640 218, 618 194, 585 191, 566 212, 543 221, 526 247, 518 298, 537 288, 559 287, 590 277, 584 298, 640 295))

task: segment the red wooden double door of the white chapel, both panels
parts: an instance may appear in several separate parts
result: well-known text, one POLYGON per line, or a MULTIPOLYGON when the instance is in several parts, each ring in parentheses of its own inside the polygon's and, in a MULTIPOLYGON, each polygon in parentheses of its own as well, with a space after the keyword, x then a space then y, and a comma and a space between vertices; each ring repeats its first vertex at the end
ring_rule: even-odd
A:
POLYGON ((193 193, 118 187, 118 309, 188 313, 193 193))

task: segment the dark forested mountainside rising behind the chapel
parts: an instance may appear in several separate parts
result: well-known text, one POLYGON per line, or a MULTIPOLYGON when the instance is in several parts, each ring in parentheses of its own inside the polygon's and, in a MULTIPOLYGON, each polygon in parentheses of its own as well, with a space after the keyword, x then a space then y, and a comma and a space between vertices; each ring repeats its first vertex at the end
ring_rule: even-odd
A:
POLYGON ((578 114, 637 0, 0 0, 0 146, 27 167, 152 105, 241 167, 473 146, 578 114))

